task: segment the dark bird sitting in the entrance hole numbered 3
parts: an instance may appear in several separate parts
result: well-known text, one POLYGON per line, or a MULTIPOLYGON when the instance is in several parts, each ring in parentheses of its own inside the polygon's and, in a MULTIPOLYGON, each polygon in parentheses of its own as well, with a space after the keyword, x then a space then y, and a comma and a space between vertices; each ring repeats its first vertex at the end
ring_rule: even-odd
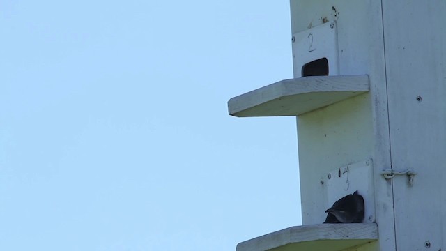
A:
POLYGON ((361 223, 364 220, 364 198, 356 192, 334 202, 324 223, 361 223))

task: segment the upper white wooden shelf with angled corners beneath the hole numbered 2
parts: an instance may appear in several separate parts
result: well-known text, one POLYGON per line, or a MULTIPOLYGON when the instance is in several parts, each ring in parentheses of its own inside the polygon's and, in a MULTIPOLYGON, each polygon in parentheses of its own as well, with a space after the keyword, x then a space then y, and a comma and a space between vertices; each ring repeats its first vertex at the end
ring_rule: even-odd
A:
POLYGON ((367 75, 286 79, 228 101, 229 114, 297 116, 369 91, 367 75))

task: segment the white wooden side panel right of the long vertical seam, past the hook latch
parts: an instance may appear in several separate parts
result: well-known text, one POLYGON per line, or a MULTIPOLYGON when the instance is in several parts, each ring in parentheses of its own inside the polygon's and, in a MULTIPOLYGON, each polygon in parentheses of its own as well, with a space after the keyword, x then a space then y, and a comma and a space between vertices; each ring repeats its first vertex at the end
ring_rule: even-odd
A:
POLYGON ((383 0, 392 168, 418 173, 387 181, 397 250, 446 250, 445 13, 443 0, 383 0))

